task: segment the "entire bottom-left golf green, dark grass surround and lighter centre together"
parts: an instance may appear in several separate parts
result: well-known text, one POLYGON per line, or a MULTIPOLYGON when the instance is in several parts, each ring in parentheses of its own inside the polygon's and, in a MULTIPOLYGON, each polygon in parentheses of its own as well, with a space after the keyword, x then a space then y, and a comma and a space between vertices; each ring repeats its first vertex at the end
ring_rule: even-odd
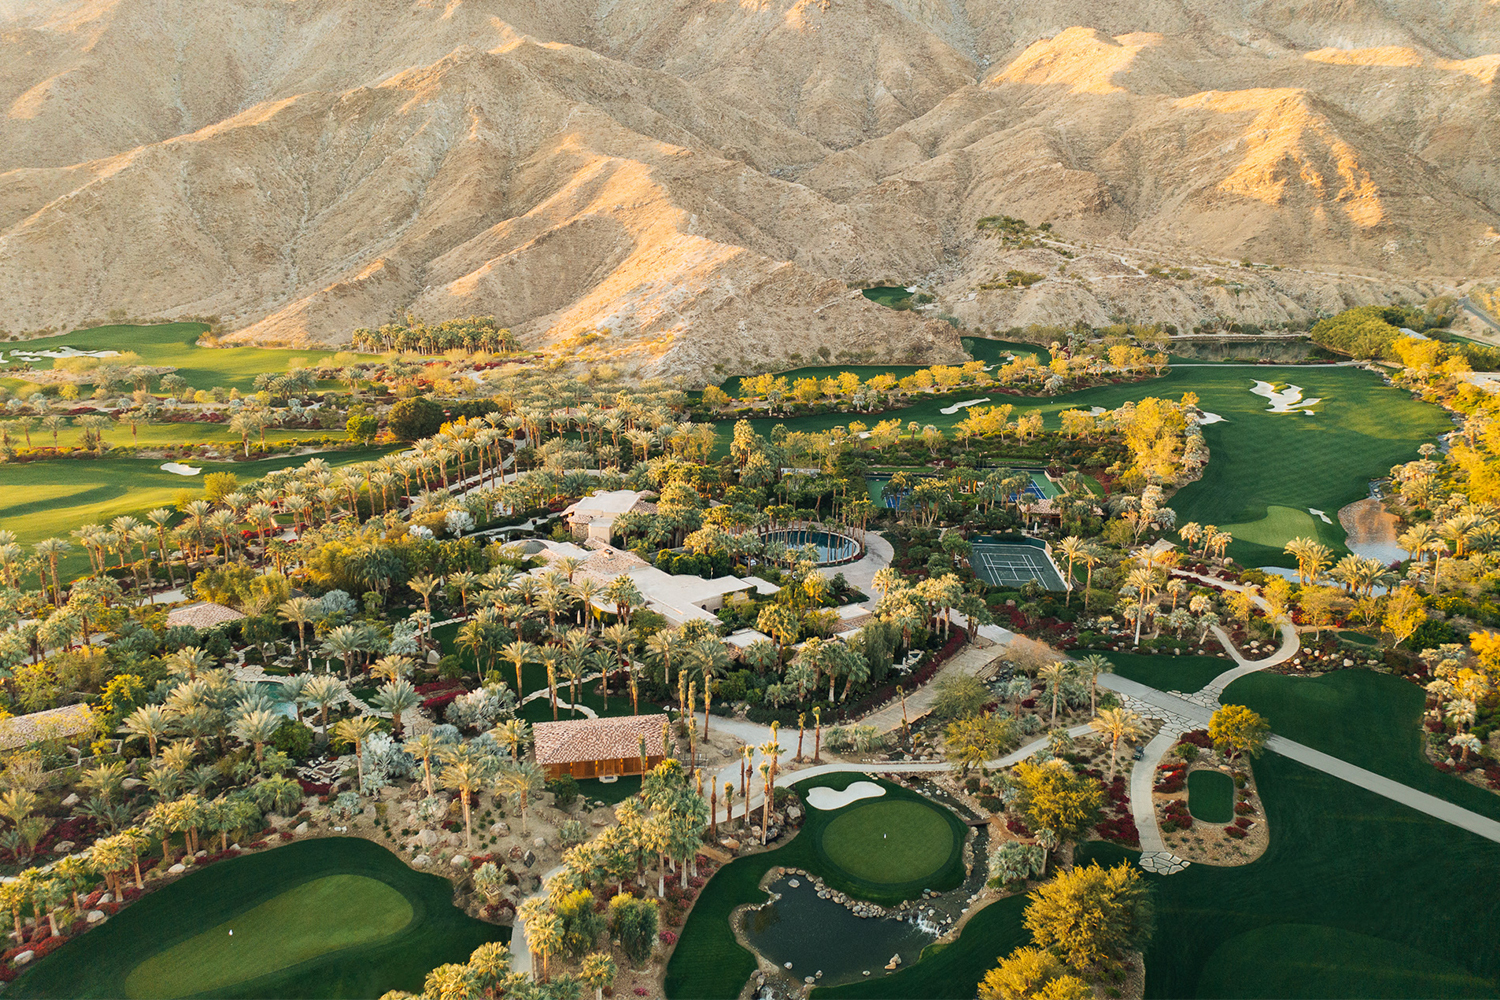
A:
POLYGON ((357 838, 219 862, 38 963, 20 997, 378 997, 417 991, 510 930, 458 910, 446 879, 357 838), (234 939, 228 934, 234 930, 234 939), (240 939, 243 942, 243 951, 240 939))

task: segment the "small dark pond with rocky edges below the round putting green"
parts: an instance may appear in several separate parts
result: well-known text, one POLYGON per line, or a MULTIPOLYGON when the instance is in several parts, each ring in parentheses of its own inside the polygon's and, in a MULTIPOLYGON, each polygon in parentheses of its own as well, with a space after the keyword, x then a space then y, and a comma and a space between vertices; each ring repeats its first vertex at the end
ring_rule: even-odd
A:
POLYGON ((855 916, 840 903, 820 900, 807 877, 782 876, 768 891, 780 898, 744 910, 741 930, 788 976, 802 979, 820 972, 818 982, 824 987, 855 982, 867 973, 884 976, 892 955, 902 957, 898 967, 910 966, 938 937, 930 922, 855 916))

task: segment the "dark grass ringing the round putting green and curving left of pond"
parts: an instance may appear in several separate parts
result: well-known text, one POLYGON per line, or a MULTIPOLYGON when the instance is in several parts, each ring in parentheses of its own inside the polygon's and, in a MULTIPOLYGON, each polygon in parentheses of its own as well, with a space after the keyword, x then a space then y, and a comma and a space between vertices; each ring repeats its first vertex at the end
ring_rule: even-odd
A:
MULTIPOLYGON (((834 774, 798 781, 792 787, 798 792, 819 786, 843 790, 854 781, 868 780, 862 774, 834 774)), ((922 796, 898 784, 890 781, 879 781, 879 784, 885 787, 885 798, 890 801, 927 802, 922 796)), ((738 906, 765 900, 765 892, 758 885, 760 877, 776 865, 818 873, 828 886, 840 892, 882 904, 912 898, 920 895, 922 889, 954 889, 963 882, 963 838, 968 835, 968 829, 952 813, 946 810, 939 813, 948 819, 954 829, 951 862, 932 877, 904 886, 848 877, 830 865, 819 843, 824 829, 840 814, 842 810, 831 813, 807 810, 802 829, 790 843, 764 855, 732 861, 710 879, 693 906, 687 924, 682 925, 681 940, 678 940, 672 960, 668 963, 668 997, 674 1000, 729 1000, 740 996, 746 979, 756 970, 756 961, 754 955, 735 940, 729 915, 738 906)))

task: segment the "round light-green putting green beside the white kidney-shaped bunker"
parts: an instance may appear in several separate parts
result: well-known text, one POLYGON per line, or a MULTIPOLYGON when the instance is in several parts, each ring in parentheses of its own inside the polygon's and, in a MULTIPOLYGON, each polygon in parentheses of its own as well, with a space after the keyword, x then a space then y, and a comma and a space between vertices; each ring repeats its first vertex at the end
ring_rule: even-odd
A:
POLYGON ((828 861, 855 879, 896 885, 924 879, 948 864, 952 826, 915 799, 876 799, 840 813, 822 834, 828 861))

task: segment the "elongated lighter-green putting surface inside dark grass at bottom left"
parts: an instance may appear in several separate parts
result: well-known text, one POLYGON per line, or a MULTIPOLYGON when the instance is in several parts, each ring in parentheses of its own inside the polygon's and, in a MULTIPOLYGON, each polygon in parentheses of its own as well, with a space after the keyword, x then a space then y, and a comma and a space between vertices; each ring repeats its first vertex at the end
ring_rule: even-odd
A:
POLYGON ((314 879, 152 955, 126 976, 124 993, 170 1000, 222 990, 388 937, 411 918, 411 903, 384 882, 314 879))

